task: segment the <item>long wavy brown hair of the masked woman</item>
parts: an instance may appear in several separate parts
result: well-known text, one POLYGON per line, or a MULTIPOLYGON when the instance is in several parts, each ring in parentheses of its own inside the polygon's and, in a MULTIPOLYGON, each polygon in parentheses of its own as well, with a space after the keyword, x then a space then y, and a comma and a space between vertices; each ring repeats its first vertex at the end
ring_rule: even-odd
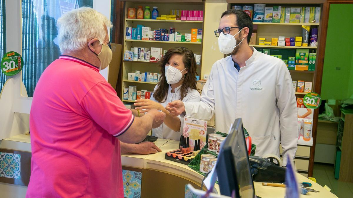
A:
POLYGON ((166 74, 164 73, 164 67, 166 67, 167 62, 170 57, 174 54, 179 54, 183 56, 183 63, 188 72, 185 74, 184 82, 180 87, 180 100, 186 96, 187 92, 189 92, 189 88, 196 89, 196 61, 194 53, 184 47, 176 47, 170 48, 166 55, 164 55, 159 61, 159 66, 161 67, 161 78, 160 82, 158 82, 158 87, 156 91, 153 93, 154 99, 156 99, 160 103, 164 103, 167 100, 169 84, 166 80, 166 74))

